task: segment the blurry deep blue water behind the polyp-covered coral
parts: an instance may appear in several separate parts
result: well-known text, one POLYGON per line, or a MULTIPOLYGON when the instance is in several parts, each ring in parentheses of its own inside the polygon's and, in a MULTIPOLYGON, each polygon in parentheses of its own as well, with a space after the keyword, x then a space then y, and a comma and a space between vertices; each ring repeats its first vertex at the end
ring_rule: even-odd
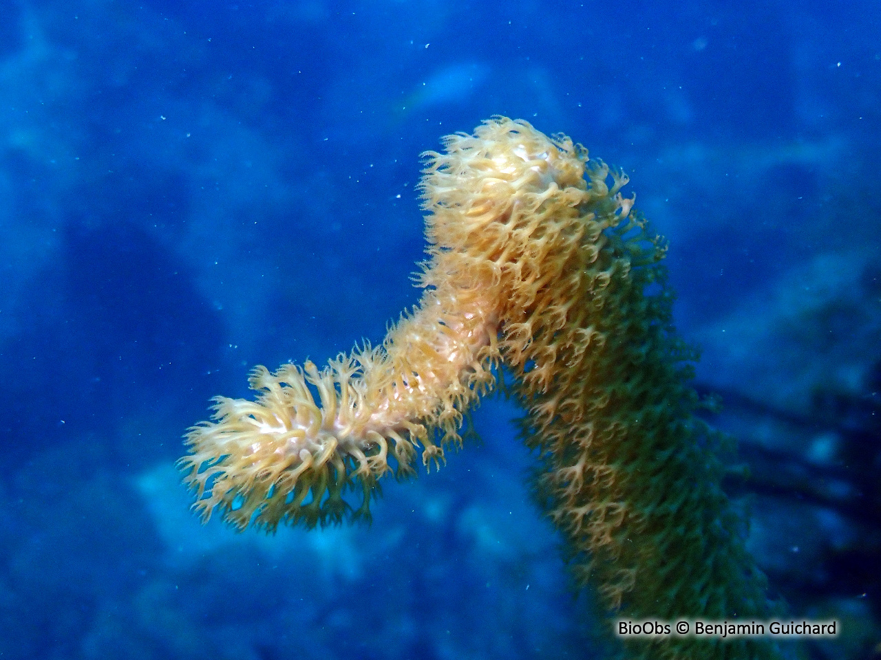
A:
MULTIPOLYGON (((875 396, 879 108, 868 1, 3 0, 0 657, 602 656, 512 403, 372 526, 271 538, 200 526, 181 434, 255 364, 381 341, 418 300, 419 154, 492 114, 631 175, 703 390, 875 396)), ((718 422, 848 481, 831 418, 718 422)), ((877 593, 823 562, 871 525, 766 503, 772 582, 863 631, 816 657, 870 657, 877 593)))

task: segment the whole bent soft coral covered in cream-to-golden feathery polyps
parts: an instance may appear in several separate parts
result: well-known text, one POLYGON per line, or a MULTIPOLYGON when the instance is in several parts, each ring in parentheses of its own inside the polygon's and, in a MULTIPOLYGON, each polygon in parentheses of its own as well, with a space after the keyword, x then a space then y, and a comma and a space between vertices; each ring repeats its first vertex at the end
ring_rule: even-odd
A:
MULTIPOLYGON (((421 183, 418 307, 380 347, 321 370, 258 367, 256 400, 218 398, 181 458, 196 509, 267 530, 366 515, 385 473, 461 444, 463 412, 504 365, 541 463, 537 498, 581 583, 622 618, 764 618, 764 578, 720 486, 722 437, 694 415, 665 246, 620 193, 626 175, 503 117, 443 144, 421 183)), ((632 656, 776 656, 746 639, 627 643, 632 656)))

